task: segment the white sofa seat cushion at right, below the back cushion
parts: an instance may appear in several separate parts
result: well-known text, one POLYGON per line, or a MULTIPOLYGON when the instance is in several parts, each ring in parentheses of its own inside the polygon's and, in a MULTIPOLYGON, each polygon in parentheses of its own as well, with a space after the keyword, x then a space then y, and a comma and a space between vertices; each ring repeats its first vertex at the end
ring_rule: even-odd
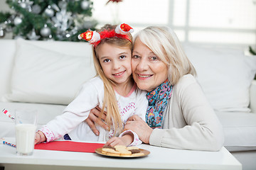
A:
POLYGON ((224 146, 229 151, 256 150, 256 114, 216 112, 223 125, 224 146))

